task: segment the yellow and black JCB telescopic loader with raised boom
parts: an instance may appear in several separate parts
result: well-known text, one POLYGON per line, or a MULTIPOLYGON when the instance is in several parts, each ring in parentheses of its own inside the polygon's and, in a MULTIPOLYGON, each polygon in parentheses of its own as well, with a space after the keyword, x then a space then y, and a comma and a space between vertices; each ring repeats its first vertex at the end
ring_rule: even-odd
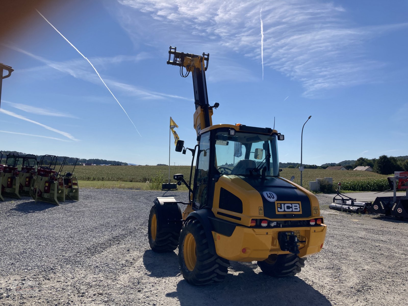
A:
POLYGON ((184 149, 179 140, 176 151, 192 152, 190 173, 195 160, 195 174, 189 183, 182 174, 174 175, 177 184, 187 186, 188 203, 174 197, 154 200, 149 244, 156 252, 178 246, 181 272, 190 284, 221 281, 229 260, 257 261, 267 275, 295 275, 306 257, 323 248, 326 225, 319 202, 279 177, 277 143, 284 135, 271 128, 212 124, 219 104, 208 104, 208 57, 169 50, 167 64, 179 66, 183 77, 193 76, 198 144, 184 149), (186 205, 183 213, 179 204, 186 205))

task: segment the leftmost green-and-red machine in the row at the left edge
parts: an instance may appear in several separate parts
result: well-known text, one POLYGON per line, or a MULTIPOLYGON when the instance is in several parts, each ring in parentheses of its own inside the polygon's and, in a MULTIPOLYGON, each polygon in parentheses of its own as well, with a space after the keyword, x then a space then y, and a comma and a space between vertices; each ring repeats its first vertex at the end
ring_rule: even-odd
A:
POLYGON ((19 194, 20 180, 18 166, 22 164, 22 156, 18 153, 7 154, 6 164, 0 175, 1 192, 0 199, 4 201, 3 196, 16 197, 21 199, 19 194))

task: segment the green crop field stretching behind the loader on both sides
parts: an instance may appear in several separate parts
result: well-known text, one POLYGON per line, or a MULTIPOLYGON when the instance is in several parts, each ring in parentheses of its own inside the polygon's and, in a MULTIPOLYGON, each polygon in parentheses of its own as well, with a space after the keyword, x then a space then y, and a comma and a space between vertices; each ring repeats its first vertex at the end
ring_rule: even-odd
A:
MULTIPOLYGON (((185 180, 188 182, 190 177, 189 166, 170 166, 171 182, 173 180, 173 174, 182 173, 185 180)), ((114 182, 133 182, 144 183, 140 184, 122 184, 123 187, 119 188, 146 188, 146 182, 149 181, 149 187, 152 187, 152 183, 156 188, 161 186, 162 182, 167 182, 169 176, 168 166, 77 166, 75 168, 75 174, 78 180, 81 181, 98 181, 94 183, 95 187, 102 182, 114 181, 114 182), (137 187, 136 187, 137 186, 137 187)), ((193 172, 194 175, 194 172, 193 172)), ((300 184, 300 171, 298 169, 284 168, 281 172, 281 176, 290 179, 292 175, 295 175, 294 182, 300 184)), ((333 177, 333 183, 336 185, 338 182, 350 182, 350 181, 373 181, 386 179, 386 175, 381 175, 369 171, 330 171, 325 169, 305 169, 303 172, 303 186, 308 188, 309 181, 314 181, 317 178, 333 177)), ((85 184, 85 186, 90 186, 85 184)), ((106 188, 115 187, 115 184, 105 183, 106 188), (111 187, 109 187, 111 186, 111 187)), ((84 186, 84 185, 82 185, 84 186)), ((91 187, 91 186, 90 186, 91 187)), ((358 190, 357 187, 355 187, 358 190)), ((381 189, 382 190, 382 189, 381 189)))

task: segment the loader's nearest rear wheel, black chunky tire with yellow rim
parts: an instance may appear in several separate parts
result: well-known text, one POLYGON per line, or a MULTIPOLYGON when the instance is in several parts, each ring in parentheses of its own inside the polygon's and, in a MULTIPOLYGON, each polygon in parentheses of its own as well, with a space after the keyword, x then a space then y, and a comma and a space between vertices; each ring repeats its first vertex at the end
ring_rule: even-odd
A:
POLYGON ((210 253, 204 227, 196 219, 186 221, 182 228, 179 262, 184 279, 192 285, 220 282, 228 274, 229 261, 210 253))

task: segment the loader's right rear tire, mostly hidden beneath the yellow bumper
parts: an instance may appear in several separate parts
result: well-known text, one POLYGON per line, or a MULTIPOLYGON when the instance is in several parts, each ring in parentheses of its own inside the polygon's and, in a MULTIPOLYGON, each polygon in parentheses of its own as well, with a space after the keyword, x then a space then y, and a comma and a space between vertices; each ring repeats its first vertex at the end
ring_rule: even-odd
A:
POLYGON ((275 276, 293 276, 305 266, 306 258, 299 258, 296 254, 269 255, 262 262, 257 262, 262 272, 275 276))

